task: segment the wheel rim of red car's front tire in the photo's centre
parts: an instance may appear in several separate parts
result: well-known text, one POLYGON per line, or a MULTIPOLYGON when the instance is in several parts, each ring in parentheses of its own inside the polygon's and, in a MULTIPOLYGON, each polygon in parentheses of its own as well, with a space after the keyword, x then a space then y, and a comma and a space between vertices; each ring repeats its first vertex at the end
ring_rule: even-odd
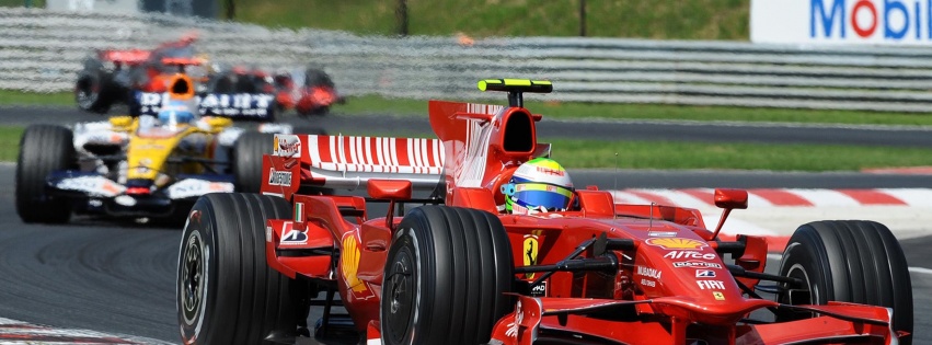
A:
POLYGON ((400 343, 411 329, 414 317, 415 304, 415 272, 413 257, 406 249, 398 253, 395 262, 388 272, 387 294, 383 298, 388 300, 388 320, 386 320, 388 338, 400 343))

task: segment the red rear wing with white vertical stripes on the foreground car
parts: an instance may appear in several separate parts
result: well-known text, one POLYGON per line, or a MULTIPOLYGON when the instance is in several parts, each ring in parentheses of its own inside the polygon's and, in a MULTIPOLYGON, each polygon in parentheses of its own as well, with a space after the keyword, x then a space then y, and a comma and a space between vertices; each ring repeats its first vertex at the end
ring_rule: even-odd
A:
POLYGON ((290 198, 301 186, 357 189, 375 179, 434 191, 442 170, 437 139, 276 135, 273 153, 263 159, 262 193, 290 198))

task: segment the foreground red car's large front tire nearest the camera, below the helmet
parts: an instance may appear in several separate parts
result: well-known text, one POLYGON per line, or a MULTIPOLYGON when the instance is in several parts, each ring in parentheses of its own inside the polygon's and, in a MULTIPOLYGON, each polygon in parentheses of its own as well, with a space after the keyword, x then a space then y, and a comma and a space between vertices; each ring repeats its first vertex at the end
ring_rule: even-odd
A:
POLYGON ((382 280, 383 344, 485 344, 511 308, 508 235, 492 214, 413 209, 399 225, 382 280), (417 330, 414 332, 414 330, 417 330))

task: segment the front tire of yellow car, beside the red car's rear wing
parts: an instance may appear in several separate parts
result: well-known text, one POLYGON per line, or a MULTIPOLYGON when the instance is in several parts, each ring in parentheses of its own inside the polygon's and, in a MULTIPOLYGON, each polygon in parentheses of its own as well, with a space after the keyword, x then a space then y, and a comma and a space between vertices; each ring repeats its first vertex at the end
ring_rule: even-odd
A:
POLYGON ((237 192, 258 193, 262 187, 262 156, 272 153, 275 135, 243 133, 233 143, 232 168, 237 192))

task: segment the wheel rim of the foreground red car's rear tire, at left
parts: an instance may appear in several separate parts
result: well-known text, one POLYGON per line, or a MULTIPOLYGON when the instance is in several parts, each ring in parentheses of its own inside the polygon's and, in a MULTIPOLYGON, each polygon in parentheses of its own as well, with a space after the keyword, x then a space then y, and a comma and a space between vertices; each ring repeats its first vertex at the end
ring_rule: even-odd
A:
POLYGON ((181 295, 184 322, 192 325, 203 314, 202 307, 205 300, 204 286, 207 283, 207 276, 205 274, 207 260, 200 232, 192 231, 191 235, 187 237, 182 260, 181 290, 179 295, 181 295))

